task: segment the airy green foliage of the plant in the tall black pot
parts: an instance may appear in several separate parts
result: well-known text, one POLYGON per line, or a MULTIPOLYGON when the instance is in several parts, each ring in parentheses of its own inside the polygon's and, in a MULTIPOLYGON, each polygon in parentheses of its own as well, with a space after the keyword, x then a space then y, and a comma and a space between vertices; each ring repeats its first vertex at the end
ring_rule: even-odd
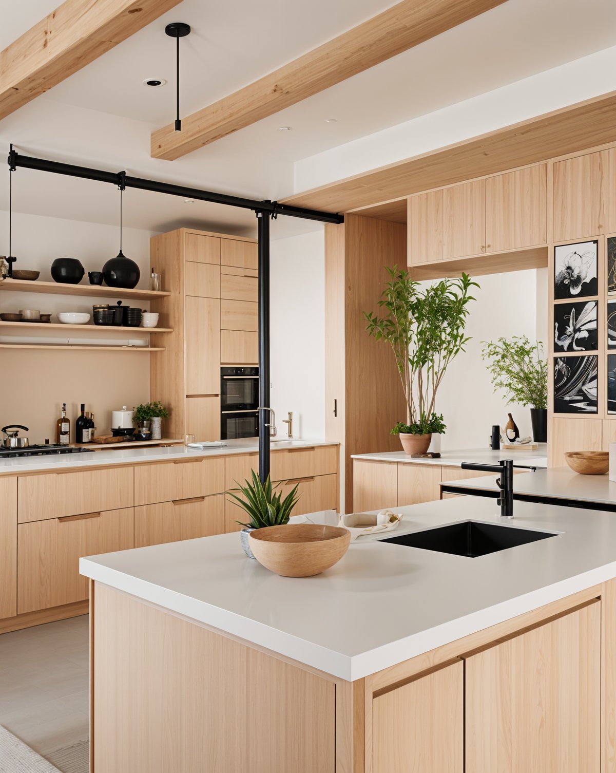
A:
POLYGON ((531 344, 526 335, 514 335, 482 344, 495 392, 502 392, 508 403, 547 407, 547 361, 541 341, 531 344))

